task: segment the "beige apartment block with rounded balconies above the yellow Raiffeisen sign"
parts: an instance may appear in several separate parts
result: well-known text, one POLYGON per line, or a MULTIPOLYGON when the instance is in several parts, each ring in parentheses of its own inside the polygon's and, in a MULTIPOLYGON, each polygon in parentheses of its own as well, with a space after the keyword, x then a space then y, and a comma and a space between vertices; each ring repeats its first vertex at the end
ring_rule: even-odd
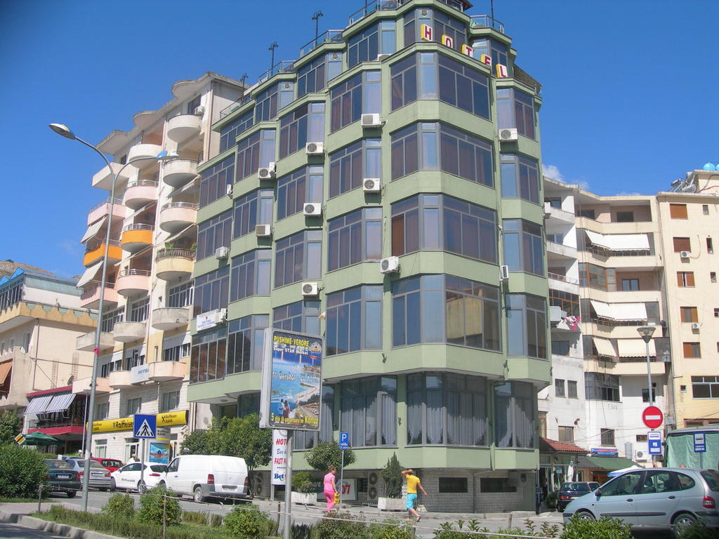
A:
MULTIPOLYGON (((96 309, 110 227, 93 454, 122 461, 139 456, 141 446, 132 438, 136 413, 157 415, 161 433, 153 451, 159 448, 170 456, 189 430, 206 427, 211 417, 209 405, 187 400, 202 196, 197 167, 229 137, 213 132, 211 125, 242 97, 243 89, 239 81, 206 73, 175 83, 172 92, 160 109, 135 114, 131 130, 113 131, 98 144, 113 156, 115 199, 91 208, 81 240, 86 246, 86 272, 78 282, 81 305, 96 309), (152 159, 163 151, 172 158, 152 159)), ((105 196, 111 184, 109 167, 93 175, 92 186, 105 196)), ((224 197, 225 183, 215 188, 224 197)), ((78 337, 77 349, 92 351, 95 338, 94 332, 78 337)))

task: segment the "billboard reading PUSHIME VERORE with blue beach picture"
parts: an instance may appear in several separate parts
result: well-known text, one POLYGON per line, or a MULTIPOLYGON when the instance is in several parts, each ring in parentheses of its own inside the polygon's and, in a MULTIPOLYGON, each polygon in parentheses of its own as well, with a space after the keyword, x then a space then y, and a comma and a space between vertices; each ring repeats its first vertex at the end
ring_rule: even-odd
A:
POLYGON ((260 426, 319 430, 322 338, 277 329, 266 335, 260 426))

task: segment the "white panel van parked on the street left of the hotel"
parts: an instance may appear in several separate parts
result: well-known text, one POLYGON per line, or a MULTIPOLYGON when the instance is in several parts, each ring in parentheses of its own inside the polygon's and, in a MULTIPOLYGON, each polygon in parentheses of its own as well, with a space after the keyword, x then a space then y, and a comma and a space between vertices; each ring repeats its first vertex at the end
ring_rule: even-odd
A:
POLYGON ((236 456, 180 455, 158 483, 196 502, 206 498, 247 497, 247 464, 236 456))

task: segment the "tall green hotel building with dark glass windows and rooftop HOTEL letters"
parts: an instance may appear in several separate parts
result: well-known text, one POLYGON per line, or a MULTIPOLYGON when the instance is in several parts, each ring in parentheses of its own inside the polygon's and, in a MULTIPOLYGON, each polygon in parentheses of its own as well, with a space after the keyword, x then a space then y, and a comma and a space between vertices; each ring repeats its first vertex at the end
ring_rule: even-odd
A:
POLYGON ((324 336, 321 430, 294 467, 350 433, 362 502, 397 453, 428 510, 534 507, 541 87, 470 8, 370 2, 222 111, 198 169, 188 399, 255 412, 266 329, 324 336))

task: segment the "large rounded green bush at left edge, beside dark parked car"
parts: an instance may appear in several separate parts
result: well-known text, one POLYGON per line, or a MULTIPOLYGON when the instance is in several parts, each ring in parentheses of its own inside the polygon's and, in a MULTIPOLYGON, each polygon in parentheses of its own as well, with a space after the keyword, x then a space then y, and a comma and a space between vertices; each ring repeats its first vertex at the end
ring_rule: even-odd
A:
POLYGON ((47 466, 41 453, 14 443, 0 446, 0 497, 37 498, 47 466))

